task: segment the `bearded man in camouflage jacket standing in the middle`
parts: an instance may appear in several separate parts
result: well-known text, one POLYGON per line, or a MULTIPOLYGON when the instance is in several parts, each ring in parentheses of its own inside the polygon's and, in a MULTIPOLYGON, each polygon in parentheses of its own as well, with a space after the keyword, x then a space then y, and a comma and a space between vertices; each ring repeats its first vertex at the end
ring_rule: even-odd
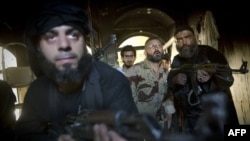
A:
POLYGON ((168 70, 161 65, 163 45, 164 41, 159 37, 150 37, 145 42, 145 60, 134 64, 125 73, 139 112, 153 116, 162 128, 166 120, 170 123, 175 112, 171 97, 166 96, 168 70), (167 97, 164 104, 163 97, 167 97), (158 114, 161 109, 166 116, 158 114))

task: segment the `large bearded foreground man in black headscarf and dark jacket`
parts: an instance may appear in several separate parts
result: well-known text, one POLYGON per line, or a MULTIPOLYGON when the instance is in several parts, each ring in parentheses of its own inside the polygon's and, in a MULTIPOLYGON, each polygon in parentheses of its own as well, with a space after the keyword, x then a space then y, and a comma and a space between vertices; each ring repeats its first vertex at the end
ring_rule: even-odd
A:
POLYGON ((127 78, 87 53, 86 36, 92 30, 82 9, 52 2, 27 23, 25 43, 37 79, 15 125, 17 141, 74 140, 64 130, 68 115, 138 113, 127 78))

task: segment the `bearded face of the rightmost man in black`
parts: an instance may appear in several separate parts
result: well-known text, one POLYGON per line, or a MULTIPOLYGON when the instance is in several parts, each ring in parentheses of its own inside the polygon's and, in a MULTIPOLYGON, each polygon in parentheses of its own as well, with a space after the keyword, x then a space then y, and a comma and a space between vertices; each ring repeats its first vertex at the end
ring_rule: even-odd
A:
POLYGON ((194 34, 189 30, 183 30, 175 35, 176 48, 179 55, 183 58, 190 58, 197 49, 197 43, 194 34))

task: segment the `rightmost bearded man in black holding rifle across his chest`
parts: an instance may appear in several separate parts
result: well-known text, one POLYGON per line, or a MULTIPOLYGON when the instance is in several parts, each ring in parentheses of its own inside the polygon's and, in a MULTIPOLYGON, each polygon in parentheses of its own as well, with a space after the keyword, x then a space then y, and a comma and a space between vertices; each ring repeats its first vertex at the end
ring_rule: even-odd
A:
MULTIPOLYGON (((204 105, 201 98, 204 95, 212 96, 215 93, 225 95, 225 109, 228 111, 214 111, 215 115, 207 116, 219 117, 219 120, 209 120, 213 123, 221 120, 223 124, 239 124, 229 90, 229 87, 234 82, 234 78, 224 55, 210 46, 198 45, 194 30, 190 26, 177 28, 174 36, 176 39, 176 49, 179 54, 174 57, 168 75, 168 93, 174 95, 176 114, 178 116, 177 120, 173 120, 178 121, 178 123, 173 125, 180 125, 181 128, 178 128, 178 130, 181 129, 184 133, 196 134, 202 131, 203 127, 197 124, 199 117, 202 114, 206 114, 202 113, 204 105), (208 69, 193 69, 192 72, 188 68, 176 71, 182 65, 211 63, 223 66, 221 71, 219 69, 215 72, 208 69)), ((214 68, 217 68, 217 66, 214 68)), ((210 122, 208 125, 211 126, 210 122)))

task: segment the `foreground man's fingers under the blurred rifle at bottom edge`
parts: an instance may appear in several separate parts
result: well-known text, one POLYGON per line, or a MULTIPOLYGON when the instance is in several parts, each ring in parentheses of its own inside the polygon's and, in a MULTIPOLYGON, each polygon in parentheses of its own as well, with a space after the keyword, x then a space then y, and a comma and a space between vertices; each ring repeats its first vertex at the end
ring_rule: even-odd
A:
POLYGON ((115 131, 108 130, 105 124, 95 124, 93 129, 94 141, 127 141, 115 131))

